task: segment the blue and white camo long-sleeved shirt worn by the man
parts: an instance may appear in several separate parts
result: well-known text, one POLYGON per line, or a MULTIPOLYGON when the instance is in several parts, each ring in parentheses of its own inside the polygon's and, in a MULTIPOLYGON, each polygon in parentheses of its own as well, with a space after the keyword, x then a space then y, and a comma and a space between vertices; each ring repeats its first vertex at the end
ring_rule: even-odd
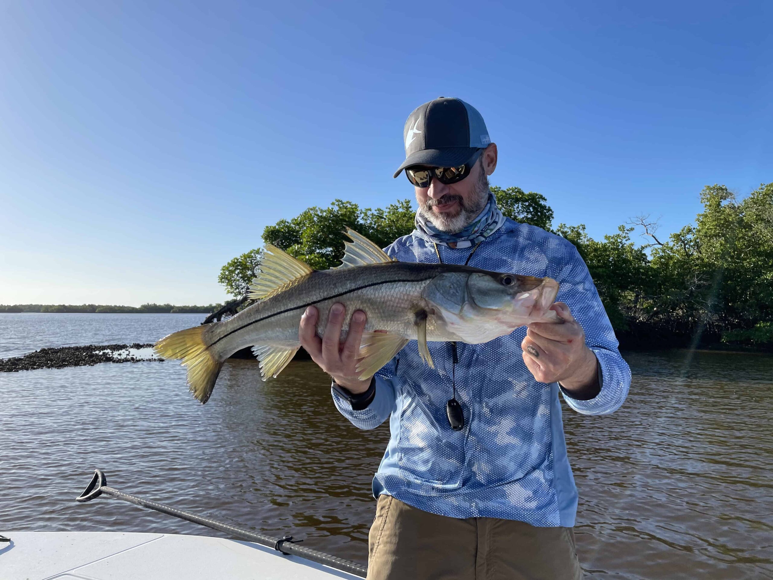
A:
MULTIPOLYGON (((444 263, 464 264, 472 248, 438 244, 444 263)), ((400 261, 438 263, 434 245, 415 231, 385 248, 400 261)), ((335 406, 352 424, 373 429, 390 419, 391 438, 373 478, 373 495, 449 517, 499 517, 534 526, 574 526, 577 487, 567 459, 559 392, 584 415, 606 415, 625 401, 631 370, 587 266, 569 241, 507 220, 470 260, 485 270, 550 276, 585 331, 601 367, 601 392, 573 399, 557 383, 537 382, 523 363, 526 326, 488 343, 458 343, 456 397, 465 427, 448 425, 451 346, 431 342, 435 368, 410 341, 376 374, 368 408, 352 406, 332 391, 335 406)))

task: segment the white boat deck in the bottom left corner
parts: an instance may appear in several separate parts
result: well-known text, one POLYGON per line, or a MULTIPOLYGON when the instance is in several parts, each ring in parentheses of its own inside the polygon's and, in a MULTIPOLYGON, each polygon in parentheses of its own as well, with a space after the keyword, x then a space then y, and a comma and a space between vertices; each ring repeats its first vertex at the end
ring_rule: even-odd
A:
POLYGON ((179 534, 13 532, 0 580, 332 580, 359 576, 247 541, 179 534))

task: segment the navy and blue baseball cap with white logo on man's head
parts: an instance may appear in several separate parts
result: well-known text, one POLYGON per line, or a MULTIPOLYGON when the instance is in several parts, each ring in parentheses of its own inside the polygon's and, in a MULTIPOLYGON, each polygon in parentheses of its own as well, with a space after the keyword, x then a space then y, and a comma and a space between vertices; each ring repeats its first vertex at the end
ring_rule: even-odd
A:
POLYGON ((394 176, 411 165, 456 167, 491 143, 481 114, 461 99, 438 97, 417 107, 403 130, 405 161, 394 176))

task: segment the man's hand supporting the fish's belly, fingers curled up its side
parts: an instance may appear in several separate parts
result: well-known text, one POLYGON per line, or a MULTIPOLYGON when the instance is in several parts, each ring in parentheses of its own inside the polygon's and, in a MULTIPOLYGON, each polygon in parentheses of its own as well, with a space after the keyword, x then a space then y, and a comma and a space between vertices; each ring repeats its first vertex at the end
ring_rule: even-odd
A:
POLYGON ((352 394, 364 393, 368 390, 370 380, 359 380, 357 373, 357 356, 359 343, 363 339, 365 329, 365 312, 356 310, 349 322, 349 333, 346 341, 340 344, 341 328, 346 319, 344 305, 337 302, 330 308, 328 324, 325 326, 324 338, 317 336, 317 319, 319 312, 314 306, 309 306, 301 316, 301 326, 298 328, 298 339, 312 360, 333 377, 336 383, 352 394))

